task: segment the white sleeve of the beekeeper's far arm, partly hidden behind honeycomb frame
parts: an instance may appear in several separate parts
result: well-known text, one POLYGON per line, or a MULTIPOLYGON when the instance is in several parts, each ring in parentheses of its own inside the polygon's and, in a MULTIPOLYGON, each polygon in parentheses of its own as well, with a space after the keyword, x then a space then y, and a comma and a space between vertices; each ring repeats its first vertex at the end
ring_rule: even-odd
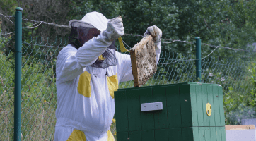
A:
MULTIPOLYGON (((159 56, 161 53, 161 41, 155 43, 156 49, 156 64, 158 64, 159 56)), ((127 54, 121 54, 117 52, 120 66, 120 82, 125 82, 129 80, 134 80, 134 76, 132 75, 132 62, 131 56, 127 54)))

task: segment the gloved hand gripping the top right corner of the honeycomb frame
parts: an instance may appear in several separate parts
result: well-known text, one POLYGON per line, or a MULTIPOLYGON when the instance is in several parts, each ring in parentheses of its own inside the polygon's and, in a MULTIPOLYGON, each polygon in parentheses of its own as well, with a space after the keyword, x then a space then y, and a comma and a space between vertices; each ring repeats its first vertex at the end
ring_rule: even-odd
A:
POLYGON ((147 35, 152 35, 154 42, 160 42, 162 37, 162 30, 160 30, 156 25, 148 27, 146 32, 144 33, 144 37, 147 35))

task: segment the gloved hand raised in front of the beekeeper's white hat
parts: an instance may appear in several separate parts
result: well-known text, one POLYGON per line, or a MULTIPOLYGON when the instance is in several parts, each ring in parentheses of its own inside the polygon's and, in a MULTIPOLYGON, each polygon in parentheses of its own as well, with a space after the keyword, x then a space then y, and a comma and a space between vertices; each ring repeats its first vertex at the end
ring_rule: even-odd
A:
POLYGON ((111 42, 124 35, 124 25, 122 23, 122 18, 112 18, 110 21, 108 21, 107 29, 103 32, 105 32, 105 35, 107 35, 107 38, 110 39, 111 42))

